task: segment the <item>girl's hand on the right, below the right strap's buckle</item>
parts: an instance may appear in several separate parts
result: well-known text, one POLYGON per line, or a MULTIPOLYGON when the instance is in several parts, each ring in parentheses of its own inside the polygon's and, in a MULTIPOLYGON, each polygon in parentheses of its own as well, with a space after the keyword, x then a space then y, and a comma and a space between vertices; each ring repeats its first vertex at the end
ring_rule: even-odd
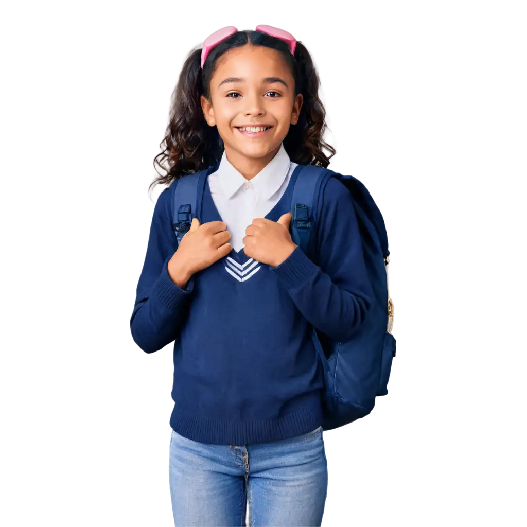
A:
POLYGON ((289 234, 291 213, 288 212, 275 222, 256 218, 245 230, 243 252, 261 264, 278 267, 297 248, 289 234))

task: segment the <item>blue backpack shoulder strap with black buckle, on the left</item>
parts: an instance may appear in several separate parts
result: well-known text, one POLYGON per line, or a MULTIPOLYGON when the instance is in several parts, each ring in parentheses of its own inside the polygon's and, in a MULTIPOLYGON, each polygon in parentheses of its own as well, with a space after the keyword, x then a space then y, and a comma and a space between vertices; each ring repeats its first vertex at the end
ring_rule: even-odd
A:
POLYGON ((184 175, 175 182, 172 203, 172 227, 178 238, 178 244, 190 229, 192 219, 200 219, 201 201, 205 181, 207 180, 207 172, 207 170, 202 170, 194 174, 184 175))

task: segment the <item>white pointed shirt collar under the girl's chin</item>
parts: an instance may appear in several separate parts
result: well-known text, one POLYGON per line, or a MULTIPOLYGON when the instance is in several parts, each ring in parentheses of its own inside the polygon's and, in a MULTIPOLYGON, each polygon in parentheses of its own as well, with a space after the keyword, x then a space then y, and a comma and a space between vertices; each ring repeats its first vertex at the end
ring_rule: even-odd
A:
MULTIPOLYGON (((263 198, 270 199, 284 183, 290 166, 291 160, 282 144, 275 157, 250 182, 263 198)), ((238 170, 229 163, 225 152, 218 167, 218 181, 227 198, 232 198, 243 184, 247 183, 238 170)))

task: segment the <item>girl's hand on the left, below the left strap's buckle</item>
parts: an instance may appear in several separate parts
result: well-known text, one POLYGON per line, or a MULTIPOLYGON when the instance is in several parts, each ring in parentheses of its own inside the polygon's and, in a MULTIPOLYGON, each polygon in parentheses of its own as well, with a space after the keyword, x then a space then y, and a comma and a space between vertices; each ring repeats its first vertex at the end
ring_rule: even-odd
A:
POLYGON ((168 274, 174 284, 185 287, 191 276, 229 254, 230 233, 222 221, 192 220, 189 231, 181 238, 178 249, 168 262, 168 274))

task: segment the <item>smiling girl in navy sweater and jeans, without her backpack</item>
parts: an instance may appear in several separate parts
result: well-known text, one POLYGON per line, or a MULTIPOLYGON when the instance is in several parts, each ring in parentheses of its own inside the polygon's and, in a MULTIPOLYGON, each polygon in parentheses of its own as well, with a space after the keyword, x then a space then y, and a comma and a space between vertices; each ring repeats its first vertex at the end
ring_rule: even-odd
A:
POLYGON ((225 27, 184 64, 174 108, 129 316, 141 353, 173 352, 173 525, 240 526, 246 506, 254 527, 321 525, 324 382, 311 328, 348 340, 372 290, 342 183, 324 190, 313 261, 289 234, 291 174, 328 164, 313 65, 282 30, 225 27), (204 169, 201 224, 178 245, 174 189, 204 169))

